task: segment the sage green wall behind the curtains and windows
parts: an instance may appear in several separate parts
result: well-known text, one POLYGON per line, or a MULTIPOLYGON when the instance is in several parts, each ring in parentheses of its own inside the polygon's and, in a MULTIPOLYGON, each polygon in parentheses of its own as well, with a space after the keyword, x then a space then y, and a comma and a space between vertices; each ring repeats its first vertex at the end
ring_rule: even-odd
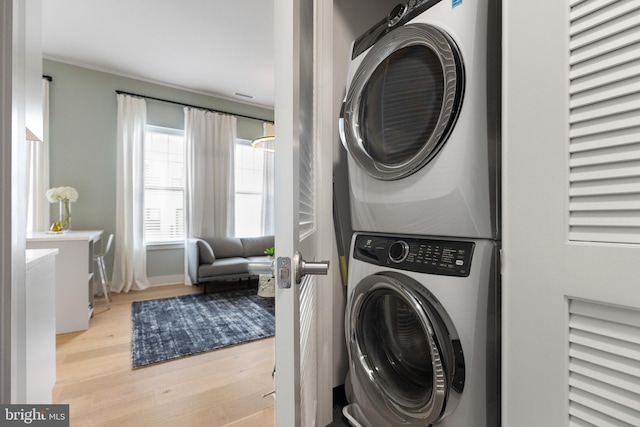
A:
MULTIPOLYGON (((214 98, 166 86, 121 77, 45 59, 43 73, 51 76, 49 142, 50 186, 71 186, 78 190, 72 204, 72 226, 76 230, 104 230, 115 233, 116 205, 116 90, 167 99, 190 105, 273 120, 273 110, 214 98)), ((180 105, 147 100, 147 122, 151 125, 184 128, 180 105)), ((238 137, 262 135, 262 122, 238 118, 238 137)), ((57 206, 52 206, 53 208, 57 206)), ((52 211, 52 218, 55 212, 52 211)), ((116 236, 116 239, 118 236, 116 236)), ((183 250, 149 250, 147 275, 182 275, 183 250)), ((113 250, 107 257, 108 274, 113 250)))

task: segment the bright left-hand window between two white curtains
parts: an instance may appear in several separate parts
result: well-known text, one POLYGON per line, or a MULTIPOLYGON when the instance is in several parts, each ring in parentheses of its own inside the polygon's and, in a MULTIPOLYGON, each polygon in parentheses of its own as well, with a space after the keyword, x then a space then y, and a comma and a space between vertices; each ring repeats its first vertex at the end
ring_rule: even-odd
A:
POLYGON ((184 132, 147 126, 144 142, 144 240, 184 240, 184 132))

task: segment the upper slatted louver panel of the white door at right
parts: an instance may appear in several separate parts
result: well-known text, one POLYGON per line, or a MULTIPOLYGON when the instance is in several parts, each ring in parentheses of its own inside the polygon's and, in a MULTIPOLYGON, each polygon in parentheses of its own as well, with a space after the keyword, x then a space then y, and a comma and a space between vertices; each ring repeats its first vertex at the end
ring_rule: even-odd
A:
POLYGON ((570 239, 640 243, 640 3, 570 11, 570 239))

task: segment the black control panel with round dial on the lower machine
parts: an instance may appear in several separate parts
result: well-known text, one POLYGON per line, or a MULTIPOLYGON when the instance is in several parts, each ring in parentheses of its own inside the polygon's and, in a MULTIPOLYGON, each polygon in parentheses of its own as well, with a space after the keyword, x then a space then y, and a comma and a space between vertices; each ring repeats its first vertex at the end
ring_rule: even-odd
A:
POLYGON ((359 234, 353 256, 370 264, 418 273, 467 277, 475 243, 359 234))

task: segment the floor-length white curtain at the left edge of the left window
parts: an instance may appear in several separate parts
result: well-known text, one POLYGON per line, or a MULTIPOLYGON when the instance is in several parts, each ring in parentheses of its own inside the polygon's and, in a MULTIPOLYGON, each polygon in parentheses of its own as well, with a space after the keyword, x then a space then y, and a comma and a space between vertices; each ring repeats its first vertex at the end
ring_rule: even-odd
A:
POLYGON ((111 290, 145 289, 147 249, 144 244, 144 99, 118 94, 115 257, 111 290))

